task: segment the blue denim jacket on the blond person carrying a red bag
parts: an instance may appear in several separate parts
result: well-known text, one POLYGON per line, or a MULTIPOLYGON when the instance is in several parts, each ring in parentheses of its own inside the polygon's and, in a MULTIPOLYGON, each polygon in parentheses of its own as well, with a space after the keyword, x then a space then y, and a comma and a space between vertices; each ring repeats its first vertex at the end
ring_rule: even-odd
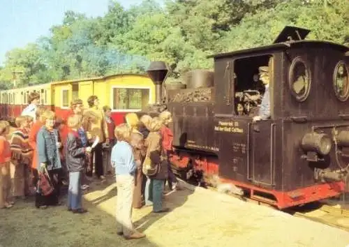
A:
POLYGON ((61 142, 58 130, 53 130, 54 139, 52 134, 45 126, 42 126, 36 136, 36 152, 38 154, 38 164, 45 163, 47 170, 56 170, 61 168, 61 159, 59 156, 59 149, 57 142, 61 142))

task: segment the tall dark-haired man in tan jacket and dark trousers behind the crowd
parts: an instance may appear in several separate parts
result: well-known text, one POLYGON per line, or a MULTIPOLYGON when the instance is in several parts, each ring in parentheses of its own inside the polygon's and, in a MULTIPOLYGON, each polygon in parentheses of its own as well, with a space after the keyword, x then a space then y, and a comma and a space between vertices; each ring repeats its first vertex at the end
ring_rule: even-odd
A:
MULTIPOLYGON (((107 122, 105 121, 105 114, 103 110, 101 110, 99 105, 99 100, 97 96, 89 96, 87 99, 87 103, 89 104, 89 109, 84 111, 84 130, 87 133, 87 139, 89 142, 94 142, 96 137, 98 137, 98 144, 94 147, 91 153, 91 164, 94 163, 94 170, 96 176, 105 180, 103 176, 103 151, 102 151, 102 143, 109 143, 109 136, 107 131, 107 122)), ((90 170, 87 173, 88 176, 92 176, 92 171, 90 170)))

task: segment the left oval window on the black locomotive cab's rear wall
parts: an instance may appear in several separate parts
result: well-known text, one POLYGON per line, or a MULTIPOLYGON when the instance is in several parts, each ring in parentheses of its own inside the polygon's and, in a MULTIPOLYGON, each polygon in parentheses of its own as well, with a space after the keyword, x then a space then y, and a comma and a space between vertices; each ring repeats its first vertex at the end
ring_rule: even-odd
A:
POLYGON ((311 88, 311 73, 306 62, 300 57, 296 57, 291 63, 288 83, 292 96, 298 101, 302 102, 308 98, 311 88))

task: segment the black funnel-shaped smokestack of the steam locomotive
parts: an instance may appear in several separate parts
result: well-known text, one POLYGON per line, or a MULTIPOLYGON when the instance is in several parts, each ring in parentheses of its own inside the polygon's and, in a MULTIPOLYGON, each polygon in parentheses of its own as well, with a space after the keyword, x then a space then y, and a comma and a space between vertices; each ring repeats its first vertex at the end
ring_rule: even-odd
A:
POLYGON ((161 104, 161 87, 163 84, 163 81, 165 80, 165 77, 168 75, 168 66, 166 66, 166 63, 163 61, 152 61, 150 63, 150 66, 147 70, 147 73, 150 77, 150 79, 155 84, 155 91, 156 91, 156 105, 161 104))

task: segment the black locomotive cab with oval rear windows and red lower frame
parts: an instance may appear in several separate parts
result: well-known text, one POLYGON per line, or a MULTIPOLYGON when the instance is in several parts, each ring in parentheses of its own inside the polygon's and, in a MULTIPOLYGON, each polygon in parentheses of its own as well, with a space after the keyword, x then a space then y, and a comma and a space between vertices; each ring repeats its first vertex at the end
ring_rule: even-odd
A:
POLYGON ((308 33, 286 27, 273 45, 214 56, 219 176, 279 208, 339 195, 347 174, 348 47, 308 33), (253 121, 265 89, 269 116, 253 121))

